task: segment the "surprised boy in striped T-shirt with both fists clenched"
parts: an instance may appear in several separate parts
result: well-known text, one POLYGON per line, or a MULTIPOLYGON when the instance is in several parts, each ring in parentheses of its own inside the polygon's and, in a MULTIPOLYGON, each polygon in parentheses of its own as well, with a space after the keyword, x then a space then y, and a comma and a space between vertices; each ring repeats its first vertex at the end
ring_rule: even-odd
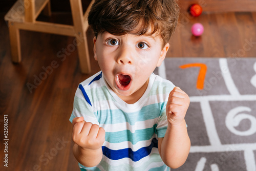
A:
POLYGON ((97 0, 88 16, 100 72, 79 84, 70 117, 81 170, 168 170, 190 140, 189 97, 153 74, 169 48, 175 0, 97 0))

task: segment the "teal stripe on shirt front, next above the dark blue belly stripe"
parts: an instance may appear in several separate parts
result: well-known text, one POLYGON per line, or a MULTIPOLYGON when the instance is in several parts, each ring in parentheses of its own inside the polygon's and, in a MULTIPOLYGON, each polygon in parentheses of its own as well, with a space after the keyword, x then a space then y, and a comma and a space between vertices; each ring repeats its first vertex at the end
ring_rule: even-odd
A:
POLYGON ((144 130, 136 130, 135 133, 132 133, 130 130, 118 131, 114 133, 106 132, 105 141, 110 143, 130 141, 132 144, 136 144, 139 141, 151 139, 155 133, 156 126, 157 124, 144 130))

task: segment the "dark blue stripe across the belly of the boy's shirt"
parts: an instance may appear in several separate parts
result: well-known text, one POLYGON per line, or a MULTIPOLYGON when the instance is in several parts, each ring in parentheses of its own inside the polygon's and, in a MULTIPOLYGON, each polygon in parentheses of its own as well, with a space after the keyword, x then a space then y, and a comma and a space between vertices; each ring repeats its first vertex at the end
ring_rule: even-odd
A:
POLYGON ((106 146, 102 146, 102 152, 104 156, 108 157, 111 160, 130 158, 136 162, 150 155, 153 147, 158 147, 158 141, 156 138, 153 138, 150 146, 142 147, 138 149, 136 152, 132 151, 132 148, 113 150, 106 146))

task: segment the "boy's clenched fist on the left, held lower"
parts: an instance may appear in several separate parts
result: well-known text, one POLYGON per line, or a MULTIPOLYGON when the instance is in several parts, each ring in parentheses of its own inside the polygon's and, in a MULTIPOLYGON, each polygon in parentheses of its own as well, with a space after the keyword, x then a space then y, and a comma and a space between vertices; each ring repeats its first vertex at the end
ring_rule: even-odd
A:
POLYGON ((98 149, 105 141, 105 130, 97 124, 86 122, 83 117, 76 117, 73 124, 73 141, 82 148, 98 149))

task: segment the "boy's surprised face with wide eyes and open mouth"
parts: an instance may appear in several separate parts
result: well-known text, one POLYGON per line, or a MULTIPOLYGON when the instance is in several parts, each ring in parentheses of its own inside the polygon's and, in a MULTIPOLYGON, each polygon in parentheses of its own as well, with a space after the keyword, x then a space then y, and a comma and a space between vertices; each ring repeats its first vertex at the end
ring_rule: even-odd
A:
POLYGON ((161 37, 104 32, 94 37, 94 57, 106 82, 125 102, 136 102, 145 92, 148 78, 165 58, 169 44, 161 37))

